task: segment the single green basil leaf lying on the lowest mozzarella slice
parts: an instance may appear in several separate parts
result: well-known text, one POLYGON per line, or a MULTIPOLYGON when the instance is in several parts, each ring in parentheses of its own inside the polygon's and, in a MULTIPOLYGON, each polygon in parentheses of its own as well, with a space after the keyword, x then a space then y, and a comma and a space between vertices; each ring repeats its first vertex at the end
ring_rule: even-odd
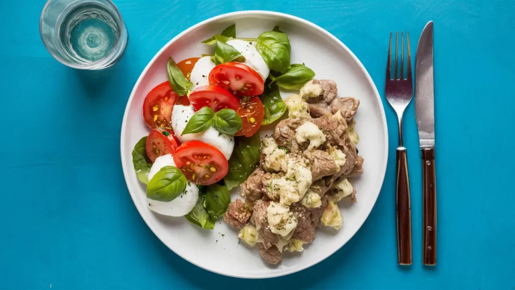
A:
POLYGON ((184 192, 186 177, 179 168, 165 166, 154 175, 147 186, 147 198, 172 201, 184 192))

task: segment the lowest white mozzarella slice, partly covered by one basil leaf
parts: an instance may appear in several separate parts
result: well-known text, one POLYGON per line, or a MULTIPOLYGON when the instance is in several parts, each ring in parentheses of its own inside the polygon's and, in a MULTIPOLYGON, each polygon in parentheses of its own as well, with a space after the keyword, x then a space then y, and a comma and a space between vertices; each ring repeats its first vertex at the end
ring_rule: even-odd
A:
MULTIPOLYGON (((171 154, 166 154, 157 157, 156 162, 152 164, 150 172, 148 173, 148 180, 151 180, 154 175, 156 175, 156 173, 158 173, 159 170, 165 166, 175 167, 174 156, 171 154)), ((164 202, 147 199, 148 207, 152 212, 173 217, 180 217, 191 212, 193 207, 195 207, 197 200, 198 187, 191 182, 187 182, 184 192, 182 192, 180 196, 176 197, 172 201, 164 202)))

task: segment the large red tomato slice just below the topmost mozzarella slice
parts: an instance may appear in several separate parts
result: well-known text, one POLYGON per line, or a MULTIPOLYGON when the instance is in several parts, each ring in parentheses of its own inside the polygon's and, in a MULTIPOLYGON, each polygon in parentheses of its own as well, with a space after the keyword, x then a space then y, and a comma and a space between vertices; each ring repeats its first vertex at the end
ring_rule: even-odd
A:
POLYGON ((259 73, 239 62, 226 62, 209 73, 209 84, 231 91, 236 96, 260 95, 265 83, 259 73))

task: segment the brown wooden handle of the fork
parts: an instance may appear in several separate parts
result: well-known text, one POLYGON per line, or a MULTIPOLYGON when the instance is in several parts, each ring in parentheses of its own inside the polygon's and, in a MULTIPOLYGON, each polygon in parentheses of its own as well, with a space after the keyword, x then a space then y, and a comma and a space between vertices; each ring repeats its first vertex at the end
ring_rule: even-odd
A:
POLYGON ((397 251, 399 265, 411 265, 408 156, 402 146, 397 148, 397 251))

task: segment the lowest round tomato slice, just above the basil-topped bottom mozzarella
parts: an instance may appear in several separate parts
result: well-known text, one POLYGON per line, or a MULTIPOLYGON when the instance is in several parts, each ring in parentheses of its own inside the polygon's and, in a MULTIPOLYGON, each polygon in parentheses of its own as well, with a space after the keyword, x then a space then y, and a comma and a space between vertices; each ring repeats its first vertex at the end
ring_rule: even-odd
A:
POLYGON ((226 157, 208 143, 193 140, 181 144, 174 162, 186 179, 198 185, 210 185, 224 178, 229 170, 226 157))

